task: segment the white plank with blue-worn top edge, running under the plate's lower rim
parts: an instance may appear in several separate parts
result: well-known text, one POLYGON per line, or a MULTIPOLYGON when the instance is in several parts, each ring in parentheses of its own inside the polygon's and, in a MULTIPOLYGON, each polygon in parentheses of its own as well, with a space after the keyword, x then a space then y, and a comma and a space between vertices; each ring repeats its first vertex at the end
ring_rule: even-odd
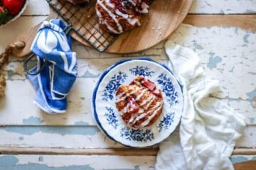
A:
MULTIPOLYGON (((247 126, 245 133, 236 143, 236 147, 256 148, 255 132, 255 126, 247 126)), ((124 146, 106 137, 96 126, 87 125, 4 126, 0 128, 0 136, 0 147, 63 149, 124 148, 124 146)))

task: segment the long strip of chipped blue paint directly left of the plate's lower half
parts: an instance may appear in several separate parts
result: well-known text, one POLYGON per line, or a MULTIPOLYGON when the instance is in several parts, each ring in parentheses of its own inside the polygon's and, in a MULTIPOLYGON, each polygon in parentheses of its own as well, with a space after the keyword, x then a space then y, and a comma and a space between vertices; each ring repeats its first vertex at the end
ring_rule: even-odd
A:
POLYGON ((58 135, 95 135, 100 130, 96 126, 5 126, 0 130, 16 132, 23 135, 33 135, 37 132, 58 135))

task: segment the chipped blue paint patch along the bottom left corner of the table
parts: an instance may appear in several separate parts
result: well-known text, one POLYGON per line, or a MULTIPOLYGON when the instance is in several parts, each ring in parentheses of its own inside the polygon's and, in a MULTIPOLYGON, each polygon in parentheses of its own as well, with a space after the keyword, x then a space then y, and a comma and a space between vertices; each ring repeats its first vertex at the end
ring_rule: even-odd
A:
POLYGON ((28 164, 18 164, 18 158, 14 156, 0 157, 0 170, 94 170, 90 165, 71 165, 71 166, 48 166, 46 164, 36 164, 28 162, 28 164))

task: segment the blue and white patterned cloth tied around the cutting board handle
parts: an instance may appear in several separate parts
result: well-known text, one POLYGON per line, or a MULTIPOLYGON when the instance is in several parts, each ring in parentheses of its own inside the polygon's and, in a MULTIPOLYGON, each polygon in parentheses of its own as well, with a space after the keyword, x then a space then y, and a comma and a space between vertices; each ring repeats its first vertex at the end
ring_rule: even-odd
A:
POLYGON ((37 56, 37 66, 27 74, 36 89, 34 103, 48 113, 63 113, 67 108, 67 95, 78 75, 76 53, 70 49, 71 38, 66 35, 63 21, 44 21, 38 29, 31 51, 37 56))

